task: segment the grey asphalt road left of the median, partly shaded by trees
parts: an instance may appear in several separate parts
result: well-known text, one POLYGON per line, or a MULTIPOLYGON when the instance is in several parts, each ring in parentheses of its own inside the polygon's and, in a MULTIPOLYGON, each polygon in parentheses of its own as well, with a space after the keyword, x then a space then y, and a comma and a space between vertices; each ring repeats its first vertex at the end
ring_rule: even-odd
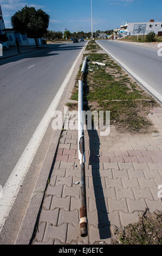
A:
POLYGON ((86 42, 0 58, 0 185, 4 186, 86 42))

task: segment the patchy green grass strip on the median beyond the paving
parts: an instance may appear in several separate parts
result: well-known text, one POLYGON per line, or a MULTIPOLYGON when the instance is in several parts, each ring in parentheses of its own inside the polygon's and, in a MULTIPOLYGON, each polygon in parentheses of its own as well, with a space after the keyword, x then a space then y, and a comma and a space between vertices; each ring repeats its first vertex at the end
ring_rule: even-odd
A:
MULTIPOLYGON (((147 133, 153 125, 147 118, 150 109, 158 106, 152 96, 142 90, 121 67, 114 62, 95 42, 89 42, 87 72, 84 80, 83 100, 88 109, 111 112, 111 125, 131 132, 147 133), (100 53, 91 53, 92 49, 100 53), (105 63, 99 66, 95 62, 105 63)), ((79 71, 80 74, 80 71, 79 71)), ((79 74, 76 77, 72 100, 77 100, 79 74)))

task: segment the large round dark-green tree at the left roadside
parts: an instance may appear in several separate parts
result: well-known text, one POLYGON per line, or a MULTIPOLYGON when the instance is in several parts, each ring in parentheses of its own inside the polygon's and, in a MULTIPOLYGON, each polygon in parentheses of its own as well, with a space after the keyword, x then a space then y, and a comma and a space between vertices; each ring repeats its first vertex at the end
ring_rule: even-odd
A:
POLYGON ((41 9, 36 10, 26 5, 11 17, 11 24, 16 31, 34 38, 36 47, 38 47, 37 38, 42 38, 47 32, 49 15, 41 9))

